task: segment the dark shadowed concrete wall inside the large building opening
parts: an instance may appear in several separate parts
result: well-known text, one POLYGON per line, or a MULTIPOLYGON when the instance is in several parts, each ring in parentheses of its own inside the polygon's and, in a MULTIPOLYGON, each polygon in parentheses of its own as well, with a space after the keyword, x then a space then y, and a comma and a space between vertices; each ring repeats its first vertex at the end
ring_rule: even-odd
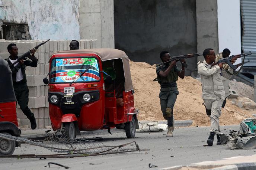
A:
MULTIPOLYGON (((196 53, 195 0, 114 0, 115 48, 133 61, 160 63, 159 54, 196 53)), ((197 59, 187 59, 186 75, 197 59)))

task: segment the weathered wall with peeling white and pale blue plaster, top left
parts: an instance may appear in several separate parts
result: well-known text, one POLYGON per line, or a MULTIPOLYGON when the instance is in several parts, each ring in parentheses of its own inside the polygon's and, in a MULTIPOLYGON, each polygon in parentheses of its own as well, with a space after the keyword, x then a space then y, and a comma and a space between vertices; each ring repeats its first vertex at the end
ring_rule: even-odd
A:
POLYGON ((78 7, 79 0, 0 0, 0 20, 27 23, 32 39, 80 39, 78 7))

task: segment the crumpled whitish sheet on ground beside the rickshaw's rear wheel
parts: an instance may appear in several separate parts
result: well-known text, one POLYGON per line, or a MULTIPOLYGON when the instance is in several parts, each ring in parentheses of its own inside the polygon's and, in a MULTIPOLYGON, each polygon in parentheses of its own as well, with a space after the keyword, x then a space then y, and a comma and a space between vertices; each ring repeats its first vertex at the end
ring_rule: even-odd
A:
POLYGON ((162 124, 158 121, 139 123, 139 128, 136 129, 136 132, 161 132, 166 130, 167 126, 167 124, 162 124))

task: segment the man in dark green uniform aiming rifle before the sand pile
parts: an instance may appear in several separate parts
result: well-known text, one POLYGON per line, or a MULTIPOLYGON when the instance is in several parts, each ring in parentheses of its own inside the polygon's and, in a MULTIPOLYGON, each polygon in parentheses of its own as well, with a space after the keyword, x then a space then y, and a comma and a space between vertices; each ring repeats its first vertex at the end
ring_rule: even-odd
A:
MULTIPOLYGON (((162 62, 167 62, 171 59, 168 51, 162 51, 160 58, 162 62)), ((182 71, 180 72, 176 66, 176 62, 167 62, 158 66, 156 68, 157 78, 154 80, 158 81, 161 87, 159 93, 161 111, 168 124, 166 137, 173 136, 173 107, 179 94, 176 81, 178 80, 178 76, 182 79, 185 76, 185 67, 182 66, 182 71)), ((183 59, 181 62, 185 63, 185 60, 183 59)))

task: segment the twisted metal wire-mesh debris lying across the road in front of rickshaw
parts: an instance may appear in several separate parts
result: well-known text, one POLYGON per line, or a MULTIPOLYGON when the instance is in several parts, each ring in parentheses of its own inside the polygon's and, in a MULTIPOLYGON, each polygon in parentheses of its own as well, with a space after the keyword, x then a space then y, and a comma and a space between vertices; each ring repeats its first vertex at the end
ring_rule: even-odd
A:
MULTIPOLYGON (((23 137, 16 137, 16 136, 2 134, 2 133, 0 133, 0 138, 4 138, 7 140, 14 140, 18 143, 25 143, 33 146, 44 147, 54 152, 63 153, 63 154, 52 155, 54 157, 63 157, 63 156, 71 157, 70 155, 73 155, 72 157, 94 156, 94 155, 100 155, 100 154, 125 153, 125 152, 140 150, 140 148, 138 147, 135 141, 131 142, 131 143, 135 143, 135 145, 131 145, 131 143, 127 143, 119 146, 105 146, 103 143, 100 143, 94 140, 86 140, 82 138, 77 138, 77 139, 66 138, 66 133, 65 133, 65 130, 63 129, 57 130, 51 135, 49 133, 47 134, 48 134, 48 137, 41 141, 30 140, 23 137)), ((26 157, 33 157, 33 156, 35 155, 27 155, 26 157)), ((7 156, 7 157, 12 157, 12 156, 7 156)), ((49 157, 49 155, 45 157, 49 157)))

